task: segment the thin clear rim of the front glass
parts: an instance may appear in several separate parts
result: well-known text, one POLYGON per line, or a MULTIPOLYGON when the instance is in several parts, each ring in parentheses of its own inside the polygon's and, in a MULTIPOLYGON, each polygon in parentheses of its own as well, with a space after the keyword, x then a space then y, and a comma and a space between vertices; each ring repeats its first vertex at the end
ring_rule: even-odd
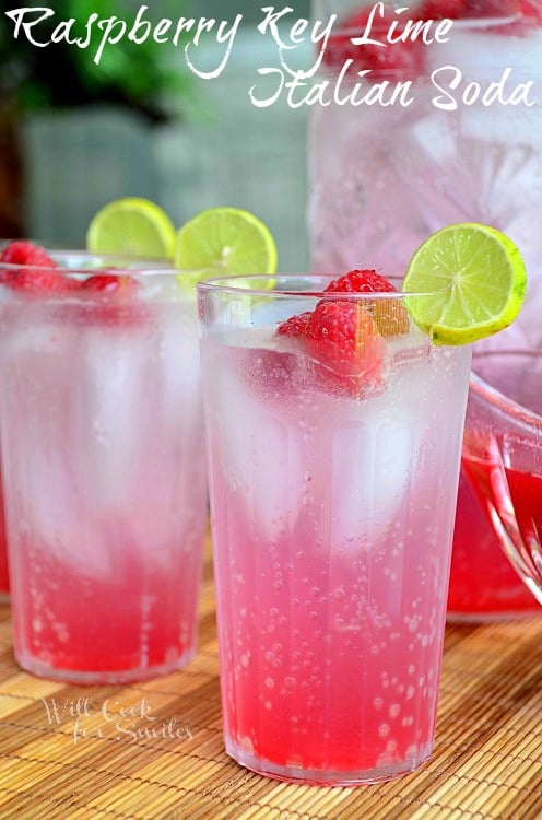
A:
MULTIPOLYGON (((326 291, 325 285, 329 282, 338 279, 337 273, 249 273, 240 276, 223 276, 212 277, 203 279, 198 282, 197 289, 200 294, 229 294, 233 296, 250 296, 255 298, 333 298, 334 300, 347 300, 347 301, 375 301, 375 300, 404 300, 404 298, 419 298, 423 296, 432 296, 436 293, 441 292, 445 289, 436 289, 434 291, 423 292, 411 292, 411 291, 366 291, 366 292, 329 292, 326 291), (303 290, 299 288, 250 288, 243 285, 241 282, 261 282, 267 280, 274 284, 281 280, 292 280, 292 283, 303 281, 318 281, 320 288, 314 290, 303 290)), ((400 284, 402 277, 386 277, 392 284, 400 284)))

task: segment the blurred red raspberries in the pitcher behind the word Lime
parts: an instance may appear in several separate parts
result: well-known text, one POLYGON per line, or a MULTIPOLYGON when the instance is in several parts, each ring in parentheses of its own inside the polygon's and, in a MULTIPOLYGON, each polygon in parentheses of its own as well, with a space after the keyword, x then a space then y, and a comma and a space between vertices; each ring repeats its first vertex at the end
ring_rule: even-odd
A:
POLYGON ((396 36, 404 27, 404 21, 393 11, 392 3, 384 7, 384 16, 374 13, 374 5, 352 12, 335 25, 341 34, 331 35, 323 54, 323 63, 339 71, 346 60, 352 60, 350 72, 370 70, 369 79, 374 81, 392 80, 392 72, 401 72, 405 80, 413 80, 423 71, 424 45, 421 39, 403 43, 388 43, 386 35, 392 22, 397 23, 396 36), (374 14, 369 38, 377 42, 354 45, 352 37, 361 37, 366 31, 370 15, 374 14))

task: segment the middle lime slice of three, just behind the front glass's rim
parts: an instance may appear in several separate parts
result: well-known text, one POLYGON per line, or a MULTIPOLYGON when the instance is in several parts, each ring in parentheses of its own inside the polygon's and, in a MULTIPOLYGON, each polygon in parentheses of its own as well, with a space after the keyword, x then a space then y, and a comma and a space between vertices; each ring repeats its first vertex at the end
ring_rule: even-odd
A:
MULTIPOLYGON (((257 216, 238 208, 210 208, 179 230, 175 267, 198 269, 197 279, 241 273, 272 274, 276 270, 273 237, 257 216)), ((262 280, 272 286, 272 280, 262 280)))

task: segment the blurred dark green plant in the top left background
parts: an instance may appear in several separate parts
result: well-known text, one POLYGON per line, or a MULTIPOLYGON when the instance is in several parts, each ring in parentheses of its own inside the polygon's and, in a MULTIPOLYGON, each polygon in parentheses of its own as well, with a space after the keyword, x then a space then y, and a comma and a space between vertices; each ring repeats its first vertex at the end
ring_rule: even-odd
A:
MULTIPOLYGON (((160 17, 176 20, 184 5, 182 0, 163 0, 160 17)), ((115 15, 130 21, 137 8, 130 0, 57 0, 55 16, 36 25, 36 32, 39 32, 39 39, 46 42, 61 21, 73 17, 76 22, 70 36, 84 38, 86 21, 92 14, 99 19, 115 15)), ((152 19, 152 11, 148 16, 152 19)), ((3 13, 0 15, 0 99, 13 101, 20 112, 114 103, 134 109, 151 121, 167 119, 173 99, 180 97, 190 104, 193 84, 189 71, 181 68, 181 45, 175 68, 169 65, 168 46, 156 43, 152 36, 140 44, 123 37, 115 45, 107 45, 96 65, 93 55, 102 37, 103 31, 94 25, 86 49, 64 40, 40 48, 22 33, 15 39, 13 22, 3 13)))

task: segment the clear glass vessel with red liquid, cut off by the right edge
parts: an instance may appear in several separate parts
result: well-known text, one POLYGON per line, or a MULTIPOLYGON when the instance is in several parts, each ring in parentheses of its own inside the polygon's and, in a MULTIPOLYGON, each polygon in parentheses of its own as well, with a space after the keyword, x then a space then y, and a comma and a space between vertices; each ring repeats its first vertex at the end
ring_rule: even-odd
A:
MULTIPOLYGON (((478 354, 463 446, 471 492, 522 587, 521 613, 542 604, 542 351, 478 354), (523 599, 525 602, 523 602, 523 599)), ((492 581, 492 564, 486 573, 492 581)), ((490 584, 490 593, 494 587, 490 584)))

